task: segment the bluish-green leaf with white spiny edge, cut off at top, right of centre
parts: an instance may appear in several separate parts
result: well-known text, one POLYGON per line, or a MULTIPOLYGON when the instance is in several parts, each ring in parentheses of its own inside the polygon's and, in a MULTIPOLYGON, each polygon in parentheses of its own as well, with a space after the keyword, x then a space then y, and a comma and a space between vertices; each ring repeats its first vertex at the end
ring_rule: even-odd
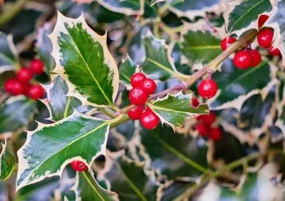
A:
POLYGON ((187 17, 194 20, 197 16, 206 17, 206 13, 219 15, 225 10, 221 0, 170 0, 170 11, 178 17, 187 17))

